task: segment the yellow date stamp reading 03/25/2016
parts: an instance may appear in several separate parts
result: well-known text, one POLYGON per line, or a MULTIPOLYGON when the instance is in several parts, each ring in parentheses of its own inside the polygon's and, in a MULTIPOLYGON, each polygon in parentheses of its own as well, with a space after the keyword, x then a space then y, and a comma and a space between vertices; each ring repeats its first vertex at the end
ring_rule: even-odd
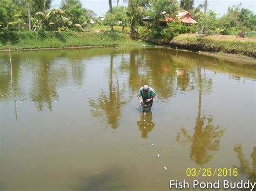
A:
POLYGON ((190 177, 227 177, 238 176, 237 168, 187 168, 186 176, 190 177))

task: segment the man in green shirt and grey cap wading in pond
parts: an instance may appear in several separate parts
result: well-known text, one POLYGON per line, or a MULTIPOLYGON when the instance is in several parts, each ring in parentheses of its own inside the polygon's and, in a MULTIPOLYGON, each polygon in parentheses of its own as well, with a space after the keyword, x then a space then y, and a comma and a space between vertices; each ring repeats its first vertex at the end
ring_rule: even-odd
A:
POLYGON ((144 85, 139 88, 137 97, 140 101, 140 105, 144 106, 144 104, 150 104, 149 107, 147 107, 147 111, 149 111, 153 105, 153 98, 156 97, 156 93, 154 93, 151 87, 144 85))

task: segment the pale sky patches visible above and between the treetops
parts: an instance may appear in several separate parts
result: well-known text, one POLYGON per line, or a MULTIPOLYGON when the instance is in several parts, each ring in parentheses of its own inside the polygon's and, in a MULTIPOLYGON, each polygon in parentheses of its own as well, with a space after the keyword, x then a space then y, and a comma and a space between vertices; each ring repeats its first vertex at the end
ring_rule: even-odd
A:
MULTIPOLYGON (((96 12, 97 16, 103 16, 109 9, 108 0, 80 0, 86 9, 91 9, 96 12)), ((52 0, 52 8, 58 8, 61 0, 52 0)), ((214 10, 219 16, 224 15, 227 12, 228 6, 238 5, 240 3, 242 8, 249 9, 256 13, 256 1, 255 0, 208 0, 208 8, 214 10)), ((116 5, 117 0, 113 5, 116 5)), ((194 6, 203 4, 204 0, 194 0, 194 6)), ((126 5, 122 0, 119 1, 119 5, 126 5)))

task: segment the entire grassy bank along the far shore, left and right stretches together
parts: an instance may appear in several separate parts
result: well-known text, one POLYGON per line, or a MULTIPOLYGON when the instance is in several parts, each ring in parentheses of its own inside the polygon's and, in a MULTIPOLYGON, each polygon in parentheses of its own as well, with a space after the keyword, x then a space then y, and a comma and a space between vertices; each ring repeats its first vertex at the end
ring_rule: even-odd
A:
MULTIPOLYGON (((0 32, 0 51, 4 49, 40 49, 84 46, 147 46, 145 41, 130 39, 130 34, 122 27, 93 26, 87 32, 0 32)), ((128 29, 125 29, 128 30, 128 29)), ((144 39, 147 40, 147 39, 144 39)), ((171 45, 191 51, 233 53, 256 58, 255 38, 237 38, 235 36, 204 36, 199 34, 181 34, 172 41, 163 38, 152 38, 149 43, 171 45)), ((214 55, 217 56, 217 55, 214 55)), ((230 55, 221 55, 230 58, 230 55)), ((241 59, 245 59, 242 58, 241 59)), ((245 59, 247 60, 247 59, 245 59)))

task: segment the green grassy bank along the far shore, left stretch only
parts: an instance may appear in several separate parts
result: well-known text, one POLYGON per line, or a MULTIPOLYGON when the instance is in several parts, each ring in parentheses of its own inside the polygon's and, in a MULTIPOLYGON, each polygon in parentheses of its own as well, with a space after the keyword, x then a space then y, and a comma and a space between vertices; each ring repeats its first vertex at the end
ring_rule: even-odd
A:
POLYGON ((0 32, 0 49, 56 48, 73 46, 141 46, 120 32, 0 32))

